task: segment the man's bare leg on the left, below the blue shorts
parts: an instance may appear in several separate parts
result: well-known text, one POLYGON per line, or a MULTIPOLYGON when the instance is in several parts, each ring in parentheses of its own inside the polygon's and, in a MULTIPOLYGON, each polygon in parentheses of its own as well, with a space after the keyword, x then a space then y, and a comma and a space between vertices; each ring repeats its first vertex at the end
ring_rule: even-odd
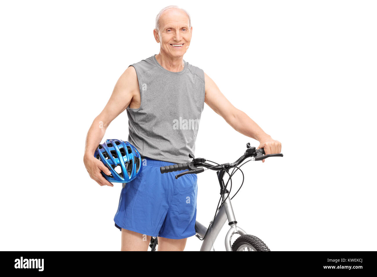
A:
MULTIPOLYGON (((148 251, 151 236, 122 228, 121 251, 148 251)), ((158 247, 159 247, 158 240, 158 247)))

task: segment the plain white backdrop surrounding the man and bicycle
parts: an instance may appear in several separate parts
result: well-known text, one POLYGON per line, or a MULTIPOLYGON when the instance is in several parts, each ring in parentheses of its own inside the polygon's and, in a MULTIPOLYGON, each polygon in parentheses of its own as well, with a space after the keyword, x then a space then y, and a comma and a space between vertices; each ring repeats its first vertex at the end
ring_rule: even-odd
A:
MULTIPOLYGON (((89 178, 84 141, 127 66, 158 54, 168 5, 192 17, 184 59, 282 142, 283 158, 242 167, 238 225, 273 251, 375 250, 376 4, 318 0, 2 1, 0 249, 120 250, 121 184, 89 178)), ((104 139, 127 136, 123 113, 104 139)), ((205 105, 197 157, 233 162, 247 142, 259 145, 205 105)), ((215 172, 198 187, 207 225, 215 172)), ((185 250, 199 247, 190 237, 185 250)))

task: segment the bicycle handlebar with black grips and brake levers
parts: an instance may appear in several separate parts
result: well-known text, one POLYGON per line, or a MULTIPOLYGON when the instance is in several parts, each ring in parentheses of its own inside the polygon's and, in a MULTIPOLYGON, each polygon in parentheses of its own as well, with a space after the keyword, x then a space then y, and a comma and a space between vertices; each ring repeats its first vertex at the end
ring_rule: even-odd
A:
POLYGON ((188 171, 184 171, 182 173, 179 173, 178 175, 175 176, 175 179, 178 179, 182 175, 185 174, 198 174, 204 171, 203 167, 209 168, 211 170, 221 170, 221 169, 229 169, 232 167, 237 166, 240 164, 242 161, 245 159, 251 157, 254 161, 262 161, 264 159, 267 159, 269 157, 282 157, 283 154, 265 154, 264 149, 256 149, 255 147, 250 146, 250 143, 246 144, 246 152, 244 155, 242 155, 237 161, 233 162, 232 164, 221 164, 221 165, 211 165, 206 163, 206 159, 203 158, 196 158, 194 155, 190 154, 189 157, 193 158, 192 162, 186 162, 184 164, 174 164, 174 165, 167 165, 164 167, 160 167, 161 173, 167 173, 167 172, 173 172, 173 171, 180 171, 180 170, 185 170, 188 169, 188 171))

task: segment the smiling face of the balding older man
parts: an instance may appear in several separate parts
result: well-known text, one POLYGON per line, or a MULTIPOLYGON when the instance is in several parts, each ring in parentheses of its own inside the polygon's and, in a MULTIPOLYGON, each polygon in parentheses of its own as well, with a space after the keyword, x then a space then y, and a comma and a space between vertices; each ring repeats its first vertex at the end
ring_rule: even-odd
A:
POLYGON ((159 32, 153 33, 161 51, 171 57, 182 57, 189 48, 192 27, 189 29, 189 17, 184 11, 169 9, 161 15, 159 32))

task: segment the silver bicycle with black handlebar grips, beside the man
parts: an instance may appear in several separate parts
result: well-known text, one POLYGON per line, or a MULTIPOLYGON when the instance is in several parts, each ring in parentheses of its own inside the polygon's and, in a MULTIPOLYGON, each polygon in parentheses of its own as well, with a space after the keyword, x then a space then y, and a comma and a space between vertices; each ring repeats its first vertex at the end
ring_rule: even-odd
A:
MULTIPOLYGON (((233 174, 236 173, 237 170, 240 170, 242 172, 240 168, 242 167, 242 165, 246 164, 247 162, 262 161, 263 159, 267 159, 269 157, 282 157, 283 154, 279 153, 279 154, 265 155, 263 148, 256 149, 255 147, 251 147, 250 143, 247 143, 246 147, 247 149, 244 155, 242 155, 237 161, 231 164, 229 163, 218 164, 217 162, 206 160, 204 158, 195 158, 193 154, 189 154, 189 157, 193 159, 192 162, 160 167, 161 173, 188 169, 187 171, 177 174, 175 176, 175 179, 178 179, 179 177, 185 174, 199 174, 208 169, 217 171, 216 174, 217 174, 218 181, 220 184, 221 196, 219 199, 218 206, 216 208, 215 216, 210 222, 210 225, 208 226, 208 228, 206 228, 204 225, 202 225, 198 221, 195 222, 195 231, 196 231, 195 236, 203 241, 200 251, 211 251, 213 247, 213 242, 215 242, 218 234, 220 233, 227 219, 228 219, 228 225, 230 226, 230 230, 225 236, 226 251, 245 251, 245 249, 247 249, 247 251, 270 251, 268 246, 261 239, 259 239, 256 236, 247 234, 242 228, 237 226, 236 217, 234 216, 233 208, 231 205, 231 199, 233 199, 233 197, 236 196, 238 191, 241 189, 242 185, 244 184, 244 178, 242 180, 242 184, 239 187, 238 191, 233 195, 233 197, 229 198, 231 187, 232 187, 231 176, 233 176, 233 174), (238 166, 241 162, 243 162, 247 158, 250 158, 250 159, 244 162, 243 164, 241 164, 240 166, 238 166), (212 162, 217 165, 208 164, 206 161, 212 162), (204 169, 204 167, 207 169, 204 169), (233 168, 233 170, 231 171, 231 173, 229 173, 229 170, 231 168, 233 168), (226 184, 224 183, 224 179, 223 179, 225 173, 228 173, 229 175, 229 179, 226 184), (227 185, 229 181, 230 181, 230 190, 228 191, 227 185), (221 205, 220 205, 220 201, 221 201, 221 205), (209 230, 211 231, 209 232, 209 230), (208 232, 210 234, 208 234, 208 232), (234 241, 233 245, 231 245, 231 238, 233 237, 234 234, 240 234, 241 236, 239 236, 234 241)), ((242 173, 242 176, 244 176, 243 173, 242 173)), ((156 251, 157 245, 158 245, 157 237, 152 237, 149 243, 151 251, 156 251)))

